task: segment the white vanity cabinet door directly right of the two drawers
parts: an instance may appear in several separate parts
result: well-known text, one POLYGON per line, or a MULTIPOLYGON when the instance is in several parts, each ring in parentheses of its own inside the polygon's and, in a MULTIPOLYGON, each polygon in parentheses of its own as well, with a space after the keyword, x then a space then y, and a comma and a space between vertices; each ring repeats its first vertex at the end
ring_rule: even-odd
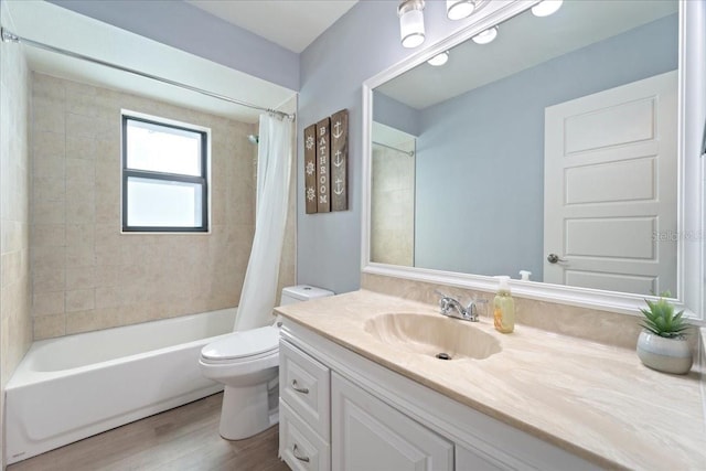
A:
POLYGON ((453 443, 331 374, 334 471, 453 470, 453 443))

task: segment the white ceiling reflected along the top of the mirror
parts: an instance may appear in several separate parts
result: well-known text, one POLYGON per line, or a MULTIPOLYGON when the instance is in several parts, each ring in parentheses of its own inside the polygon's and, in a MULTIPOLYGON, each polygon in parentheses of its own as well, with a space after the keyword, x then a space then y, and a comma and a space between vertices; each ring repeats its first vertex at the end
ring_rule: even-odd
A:
POLYGON ((449 51, 443 66, 421 63, 376 90, 425 109, 677 11, 676 0, 568 0, 546 18, 525 11, 501 24, 492 43, 468 40, 449 51))

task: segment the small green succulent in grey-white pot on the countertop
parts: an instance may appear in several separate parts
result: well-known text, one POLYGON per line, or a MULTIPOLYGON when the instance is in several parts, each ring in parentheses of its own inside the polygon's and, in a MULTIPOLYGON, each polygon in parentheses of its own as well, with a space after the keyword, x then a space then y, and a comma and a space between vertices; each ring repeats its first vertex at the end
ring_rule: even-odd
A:
POLYGON ((663 293, 656 301, 645 299, 649 309, 644 314, 638 339, 638 356, 645 366, 665 373, 686 374, 692 368, 692 351, 686 341, 686 331, 691 324, 684 320, 684 311, 674 313, 663 293))

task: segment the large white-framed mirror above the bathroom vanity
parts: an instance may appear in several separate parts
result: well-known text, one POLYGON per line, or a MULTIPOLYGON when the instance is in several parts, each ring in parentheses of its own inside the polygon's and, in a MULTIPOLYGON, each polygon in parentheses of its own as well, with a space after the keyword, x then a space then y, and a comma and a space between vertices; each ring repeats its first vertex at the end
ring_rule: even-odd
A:
POLYGON ((700 317, 694 7, 535 3, 492 2, 363 84, 363 272, 482 291, 510 275, 518 296, 624 313, 668 291, 700 317))

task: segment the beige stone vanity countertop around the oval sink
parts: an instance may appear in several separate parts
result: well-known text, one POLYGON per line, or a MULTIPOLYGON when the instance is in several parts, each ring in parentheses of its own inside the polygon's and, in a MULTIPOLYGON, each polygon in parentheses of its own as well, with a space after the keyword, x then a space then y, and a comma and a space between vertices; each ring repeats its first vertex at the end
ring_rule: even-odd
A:
MULTIPOLYGON (((430 304, 372 291, 277 308, 309 328, 473 409, 608 469, 706 470, 706 418, 695 362, 684 376, 642 365, 633 350, 492 320, 473 323, 502 351, 451 362, 405 354, 364 331, 382 313, 440 315, 430 304)), ((550 315, 550 313, 547 313, 550 315)), ((449 322, 464 322, 449 319, 449 322)))

